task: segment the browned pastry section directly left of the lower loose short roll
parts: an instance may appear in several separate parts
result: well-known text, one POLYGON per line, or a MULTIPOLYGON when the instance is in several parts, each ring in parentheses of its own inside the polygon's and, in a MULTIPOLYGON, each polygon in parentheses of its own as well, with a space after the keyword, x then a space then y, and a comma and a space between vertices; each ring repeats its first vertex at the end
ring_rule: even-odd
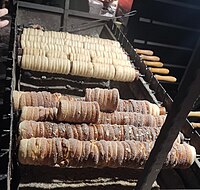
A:
POLYGON ((54 121, 57 118, 57 108, 44 108, 42 106, 32 107, 24 106, 20 121, 33 120, 33 121, 54 121))

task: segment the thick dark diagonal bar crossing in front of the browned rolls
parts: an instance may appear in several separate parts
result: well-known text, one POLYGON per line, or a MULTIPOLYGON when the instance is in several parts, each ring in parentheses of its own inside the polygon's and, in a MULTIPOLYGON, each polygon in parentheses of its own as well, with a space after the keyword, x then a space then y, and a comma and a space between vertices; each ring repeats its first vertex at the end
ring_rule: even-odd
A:
POLYGON ((200 38, 190 59, 190 63, 181 82, 178 95, 172 104, 160 135, 151 151, 136 190, 151 189, 173 143, 186 123, 188 113, 200 94, 200 38))

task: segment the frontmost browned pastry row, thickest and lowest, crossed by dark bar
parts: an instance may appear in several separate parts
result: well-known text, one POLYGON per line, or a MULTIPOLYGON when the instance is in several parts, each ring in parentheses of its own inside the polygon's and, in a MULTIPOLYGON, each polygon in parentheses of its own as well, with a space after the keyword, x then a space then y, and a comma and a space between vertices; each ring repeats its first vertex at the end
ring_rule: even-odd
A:
MULTIPOLYGON (((61 167, 130 167, 143 168, 154 142, 79 141, 65 138, 22 139, 18 159, 25 165, 61 167)), ((187 168, 196 158, 195 148, 175 143, 164 167, 187 168)))

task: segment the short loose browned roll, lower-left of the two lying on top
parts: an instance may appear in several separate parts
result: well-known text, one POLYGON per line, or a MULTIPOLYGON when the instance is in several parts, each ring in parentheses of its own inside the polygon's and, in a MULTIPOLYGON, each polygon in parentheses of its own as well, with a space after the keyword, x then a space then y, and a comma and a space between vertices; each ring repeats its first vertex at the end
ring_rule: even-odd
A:
POLYGON ((97 102, 61 100, 58 109, 58 121, 72 123, 96 123, 100 109, 97 102))

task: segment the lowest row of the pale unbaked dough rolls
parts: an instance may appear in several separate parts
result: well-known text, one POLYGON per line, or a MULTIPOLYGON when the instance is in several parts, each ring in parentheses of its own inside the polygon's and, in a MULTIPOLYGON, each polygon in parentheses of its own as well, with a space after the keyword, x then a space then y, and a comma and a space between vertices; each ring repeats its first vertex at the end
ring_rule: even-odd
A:
POLYGON ((25 70, 93 77, 104 80, 131 82, 139 73, 133 67, 72 61, 64 58, 48 58, 45 56, 23 55, 20 63, 25 70), (124 74, 126 73, 126 74, 124 74))

